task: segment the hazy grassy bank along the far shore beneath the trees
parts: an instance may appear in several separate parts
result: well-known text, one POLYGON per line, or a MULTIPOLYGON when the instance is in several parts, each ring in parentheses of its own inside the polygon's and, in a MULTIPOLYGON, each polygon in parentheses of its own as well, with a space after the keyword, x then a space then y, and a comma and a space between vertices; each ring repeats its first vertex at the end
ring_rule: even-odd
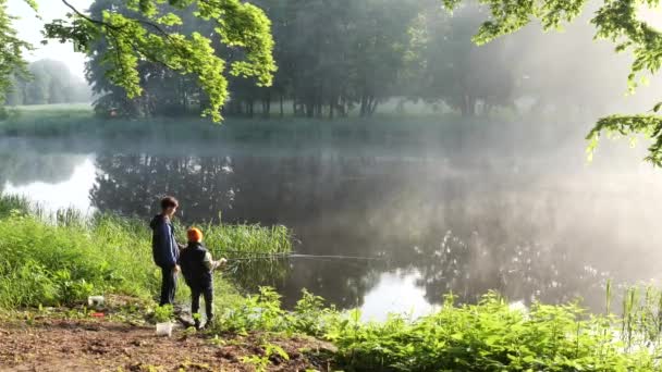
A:
MULTIPOLYGON (((341 117, 335 120, 278 115, 271 119, 226 117, 213 124, 197 116, 113 119, 95 117, 89 109, 73 107, 13 109, 14 114, 0 121, 0 137, 25 138, 91 138, 111 140, 168 140, 219 142, 287 142, 287 144, 380 144, 461 145, 471 139, 490 146, 497 139, 517 141, 517 138, 544 137, 560 127, 572 128, 578 140, 588 133, 568 123, 544 125, 524 119, 501 116, 463 117, 455 113, 437 114, 376 114, 373 117, 341 117), (567 124, 567 125, 564 125, 567 124), (513 138, 516 137, 516 138, 513 138)), ((523 144, 519 144, 523 145, 523 144)), ((540 144, 534 144, 540 145, 540 144)), ((532 145, 532 146, 534 146, 532 145)))

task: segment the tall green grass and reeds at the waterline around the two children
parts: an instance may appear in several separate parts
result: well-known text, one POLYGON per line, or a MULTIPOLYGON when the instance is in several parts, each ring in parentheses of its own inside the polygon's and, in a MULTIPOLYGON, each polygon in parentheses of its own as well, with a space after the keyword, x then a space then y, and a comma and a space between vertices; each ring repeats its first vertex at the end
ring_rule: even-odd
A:
MULTIPOLYGON (((0 196, 0 308, 73 305, 93 293, 157 294, 160 273, 145 221, 85 219, 74 210, 50 218, 36 210, 25 199, 0 196)), ((206 233, 212 245, 233 247, 236 255, 291 247, 280 227, 207 225, 206 233)))

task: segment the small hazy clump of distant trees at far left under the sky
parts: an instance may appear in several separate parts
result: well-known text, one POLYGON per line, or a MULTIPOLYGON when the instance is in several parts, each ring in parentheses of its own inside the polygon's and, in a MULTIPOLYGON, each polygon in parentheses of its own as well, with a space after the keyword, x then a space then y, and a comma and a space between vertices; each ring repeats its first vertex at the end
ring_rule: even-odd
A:
POLYGON ((85 80, 72 75, 59 61, 40 60, 29 64, 30 76, 13 77, 7 106, 82 103, 91 101, 85 80))

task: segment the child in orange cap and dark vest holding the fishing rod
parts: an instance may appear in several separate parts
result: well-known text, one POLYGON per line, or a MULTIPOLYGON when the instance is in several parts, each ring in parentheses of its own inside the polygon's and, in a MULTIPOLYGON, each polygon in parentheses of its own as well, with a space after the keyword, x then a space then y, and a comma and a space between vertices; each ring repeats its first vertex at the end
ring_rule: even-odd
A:
POLYGON ((197 317, 200 309, 200 295, 205 297, 207 323, 213 319, 213 276, 212 271, 226 262, 225 259, 213 261, 211 253, 203 245, 203 232, 192 227, 186 232, 188 246, 180 255, 180 268, 188 287, 191 287, 191 314, 195 327, 200 328, 200 319, 197 317))

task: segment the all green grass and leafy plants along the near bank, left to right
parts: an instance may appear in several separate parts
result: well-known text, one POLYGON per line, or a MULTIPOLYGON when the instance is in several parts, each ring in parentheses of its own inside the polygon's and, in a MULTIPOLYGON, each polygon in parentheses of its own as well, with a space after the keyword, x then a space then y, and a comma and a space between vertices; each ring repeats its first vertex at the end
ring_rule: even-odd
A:
MULTIPOLYGON (((292 249, 283 227, 209 224, 204 230, 214 255, 263 257, 292 249)), ((112 215, 86 220, 73 211, 49 218, 22 198, 4 196, 0 236, 0 307, 5 311, 56 306, 78 309, 85 319, 87 310, 79 303, 89 295, 122 295, 148 303, 157 292, 149 234, 138 221, 112 215)), ((307 292, 285 310, 271 288, 243 297, 229 281, 217 285, 222 286, 218 315, 200 335, 221 345, 228 335, 262 334, 254 340, 260 351, 242 359, 256 370, 290 357, 270 344, 269 334, 332 343, 334 368, 347 371, 661 370, 662 296, 652 289, 630 289, 620 307, 608 286, 606 315, 588 313, 576 303, 514 307, 488 294, 479 303, 463 305, 448 295, 428 315, 393 314, 385 322, 366 322, 359 310, 328 307, 307 292)), ((185 293, 180 295, 185 301, 185 293)), ((132 311, 135 315, 147 309, 132 311)))

